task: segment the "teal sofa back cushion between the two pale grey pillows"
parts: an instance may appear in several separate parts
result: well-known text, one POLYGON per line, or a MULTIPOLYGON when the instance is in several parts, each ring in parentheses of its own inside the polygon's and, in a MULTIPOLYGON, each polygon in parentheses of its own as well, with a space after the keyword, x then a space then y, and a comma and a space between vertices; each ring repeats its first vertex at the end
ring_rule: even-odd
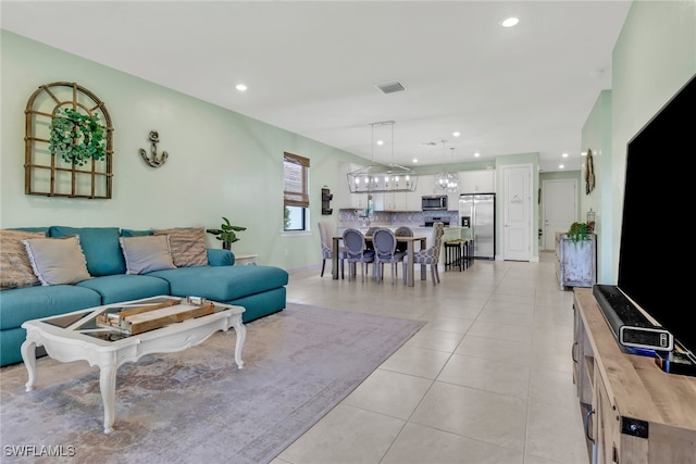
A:
POLYGON ((117 227, 49 227, 49 237, 79 235, 79 242, 92 276, 124 274, 126 263, 119 243, 117 227))

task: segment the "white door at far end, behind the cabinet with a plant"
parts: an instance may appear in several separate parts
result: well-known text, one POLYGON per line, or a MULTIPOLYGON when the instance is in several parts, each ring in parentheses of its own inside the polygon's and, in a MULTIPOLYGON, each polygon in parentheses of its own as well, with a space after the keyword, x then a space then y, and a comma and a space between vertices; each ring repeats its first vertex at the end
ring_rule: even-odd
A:
POLYGON ((542 197, 544 250, 554 250, 556 233, 567 231, 577 221, 577 180, 544 180, 542 197))

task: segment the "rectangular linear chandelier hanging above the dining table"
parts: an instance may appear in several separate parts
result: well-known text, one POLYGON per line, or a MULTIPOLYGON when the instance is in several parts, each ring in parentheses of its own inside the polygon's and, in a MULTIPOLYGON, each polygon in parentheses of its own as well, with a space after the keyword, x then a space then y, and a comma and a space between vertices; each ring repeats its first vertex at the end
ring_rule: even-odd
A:
POLYGON ((409 167, 394 163, 394 121, 373 123, 372 133, 372 164, 348 173, 348 187, 351 193, 380 193, 397 191, 415 191, 418 187, 418 173, 409 167), (385 165, 374 164, 374 127, 391 126, 391 163, 385 165))

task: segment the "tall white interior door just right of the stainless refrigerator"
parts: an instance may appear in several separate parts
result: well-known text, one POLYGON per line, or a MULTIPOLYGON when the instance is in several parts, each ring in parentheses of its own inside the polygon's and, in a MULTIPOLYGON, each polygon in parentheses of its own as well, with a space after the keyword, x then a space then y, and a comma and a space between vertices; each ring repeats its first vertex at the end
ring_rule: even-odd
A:
POLYGON ((502 168, 502 259, 532 258, 532 166, 502 168))

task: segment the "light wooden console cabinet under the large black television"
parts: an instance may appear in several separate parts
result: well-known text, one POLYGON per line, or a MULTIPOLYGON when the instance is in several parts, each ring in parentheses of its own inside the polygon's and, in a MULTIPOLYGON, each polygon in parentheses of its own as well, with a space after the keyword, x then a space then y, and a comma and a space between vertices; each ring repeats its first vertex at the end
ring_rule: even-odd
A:
POLYGON ((573 310, 573 380, 586 411, 589 461, 696 463, 696 377, 626 354, 591 288, 574 289, 573 310))

